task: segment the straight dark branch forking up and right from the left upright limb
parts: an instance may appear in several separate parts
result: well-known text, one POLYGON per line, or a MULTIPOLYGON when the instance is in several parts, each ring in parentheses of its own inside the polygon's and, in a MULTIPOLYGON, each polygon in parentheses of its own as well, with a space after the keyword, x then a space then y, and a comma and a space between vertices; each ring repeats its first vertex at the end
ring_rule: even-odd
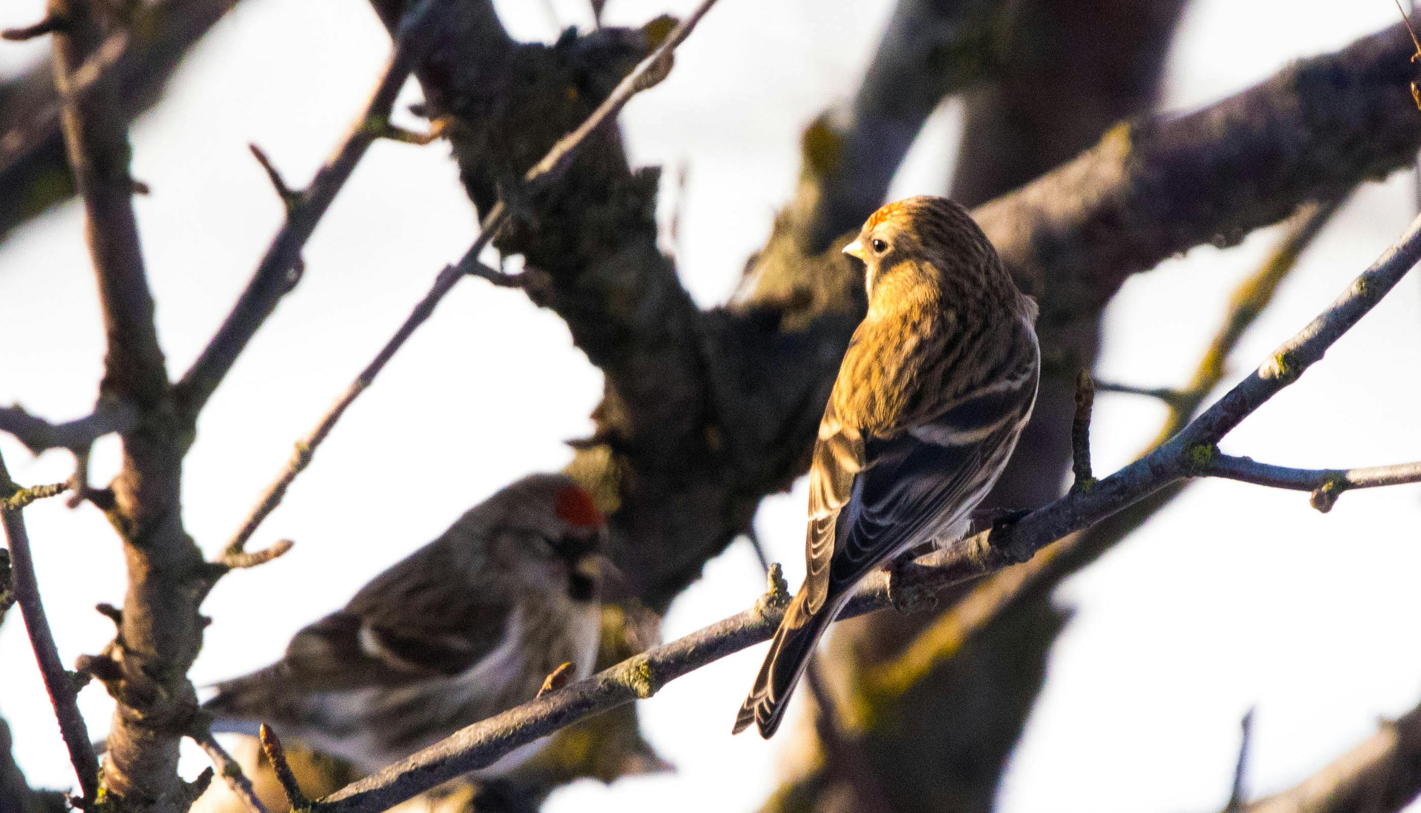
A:
POLYGON ((300 199, 288 206, 287 217, 252 274, 252 281, 217 328, 217 334, 178 384, 179 402, 189 419, 196 419, 237 355, 276 308, 277 301, 290 290, 288 273, 300 262, 301 249, 365 151, 379 138, 385 122, 389 121, 399 88, 433 48, 435 26, 443 18, 442 11, 448 11, 452 6, 453 0, 419 0, 401 20, 395 50, 365 109, 351 125, 345 141, 301 192, 300 199))

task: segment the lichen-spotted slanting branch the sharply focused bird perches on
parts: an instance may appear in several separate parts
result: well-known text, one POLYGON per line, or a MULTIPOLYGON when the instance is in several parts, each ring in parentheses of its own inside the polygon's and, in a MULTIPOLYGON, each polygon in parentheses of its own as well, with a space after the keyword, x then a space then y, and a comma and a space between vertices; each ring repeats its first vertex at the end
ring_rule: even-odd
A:
MULTIPOLYGON (((1418 260, 1421 217, 1331 307, 1285 341, 1263 365, 1167 443, 1098 480, 1088 490, 1073 490, 1019 522, 979 533, 919 559, 895 574, 895 581, 935 591, 1026 561, 1052 542, 1100 522, 1171 482, 1204 476, 1204 468, 1218 455, 1215 443, 1320 360, 1418 260)), ((767 640, 783 615, 784 601, 783 597, 777 598, 762 601, 585 681, 468 726, 333 793, 314 807, 320 813, 377 813, 469 770, 492 765, 513 748, 578 719, 649 698, 668 681, 767 640)), ((875 571, 860 584, 840 618, 888 605, 888 576, 875 571)))

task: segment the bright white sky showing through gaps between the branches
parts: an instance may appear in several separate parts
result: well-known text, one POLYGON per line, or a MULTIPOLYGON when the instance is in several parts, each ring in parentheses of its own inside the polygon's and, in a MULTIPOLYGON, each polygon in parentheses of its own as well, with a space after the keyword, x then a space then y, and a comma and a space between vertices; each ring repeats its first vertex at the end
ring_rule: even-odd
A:
MULTIPOLYGON (((0 6, 0 26, 33 23, 41 0, 0 6)), ((338 142, 378 75, 388 38, 364 4, 244 0, 185 63, 168 98, 134 131, 134 173, 153 193, 138 213, 169 368, 202 348, 280 222, 246 151, 261 145, 298 185, 338 142)), ((553 3, 585 24, 583 0, 553 3)), ((639 24, 691 0, 611 0, 611 23, 639 24)), ((541 3, 499 3, 514 36, 550 38, 541 3)), ((790 196, 799 132, 854 88, 887 0, 720 0, 681 48, 671 78, 622 117, 638 163, 689 166, 679 267, 702 304, 726 297, 790 196)), ((1165 107, 1218 99, 1283 67, 1395 20, 1391 0, 1196 0, 1168 58, 1165 107)), ((14 70, 41 45, 6 44, 14 70)), ((406 99, 418 90, 406 88, 406 99)), ((942 192, 955 108, 934 118, 894 196, 942 192)), ((1404 229, 1410 173, 1366 186, 1283 286, 1235 354, 1238 375, 1302 327, 1404 229)), ((327 404, 365 364, 435 273, 473 237, 472 209, 446 145, 377 144, 306 252, 301 286, 280 306, 203 414, 188 459, 185 520, 220 549, 327 404)), ((0 246, 0 404, 55 419, 85 414, 101 374, 101 333, 81 212, 68 203, 0 246)), ((1214 333, 1223 297, 1277 239, 1195 249, 1133 279, 1107 313, 1100 372, 1182 384, 1214 333)), ((1421 283, 1411 276, 1327 358, 1225 442, 1231 453, 1299 466, 1421 459, 1421 283)), ((566 327, 517 291, 468 280, 395 358, 318 452, 253 540, 294 539, 280 563, 226 578, 193 668, 202 685, 274 659, 301 625, 436 536, 517 476, 557 469, 564 439, 588 432, 600 375, 566 327), (406 486, 406 488, 392 488, 406 486), (394 499, 394 492, 404 496, 394 499)), ((1127 462, 1161 418, 1128 397, 1097 402, 1097 472, 1127 462)), ((9 436, 17 480, 57 482, 65 453, 40 459, 9 436)), ((101 445, 94 476, 115 470, 101 445)), ((757 527, 791 586, 803 574, 803 488, 764 502, 757 527)), ((118 542, 92 507, 47 500, 26 512, 38 578, 63 658, 98 651, 119 604, 118 542)), ((1003 783, 1003 813, 1165 813, 1219 807, 1238 721, 1256 706, 1250 786, 1292 785, 1368 736, 1377 718, 1421 698, 1421 488, 1346 495, 1330 515, 1306 495, 1232 482, 1195 485, 1128 544, 1069 581, 1074 618, 1003 783)), ((746 607, 763 578, 743 544, 706 567, 672 607, 664 635, 746 607)), ((776 782, 786 739, 729 736, 763 647, 669 684, 641 706, 675 775, 557 792, 553 813, 628 806, 753 810, 776 782)), ((72 772, 18 617, 0 628, 0 715, 31 782, 72 772)), ((112 704, 82 692, 95 735, 112 704)), ((796 714, 796 711, 791 711, 796 714)), ((794 725, 787 725, 793 732, 794 725)), ((193 755, 185 770, 205 762, 193 755)))

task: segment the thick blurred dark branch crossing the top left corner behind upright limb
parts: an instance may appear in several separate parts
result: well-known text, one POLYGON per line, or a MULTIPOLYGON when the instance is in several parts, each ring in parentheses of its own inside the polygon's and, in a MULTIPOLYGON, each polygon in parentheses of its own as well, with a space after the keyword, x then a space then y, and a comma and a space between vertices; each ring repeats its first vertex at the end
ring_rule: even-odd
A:
MULTIPOLYGON (((81 94, 121 88, 111 115, 132 122, 162 95, 188 50, 236 0, 132 4, 128 30, 111 34, 75 72, 81 94), (141 37, 129 30, 142 31, 141 37)), ((60 134, 54 65, 40 64, 0 85, 0 236, 74 193, 60 134)))

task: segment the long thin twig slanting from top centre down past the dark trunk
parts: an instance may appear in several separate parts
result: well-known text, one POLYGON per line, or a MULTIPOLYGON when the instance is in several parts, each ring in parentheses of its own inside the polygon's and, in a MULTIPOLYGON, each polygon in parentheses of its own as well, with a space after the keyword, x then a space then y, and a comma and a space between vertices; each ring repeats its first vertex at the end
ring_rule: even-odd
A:
MULTIPOLYGON (((631 97, 652 87, 657 81, 661 81, 661 78, 665 77, 665 71, 669 70, 666 58, 672 50, 691 34, 696 23, 701 21, 701 17, 703 17, 713 4, 715 0, 702 0, 701 6, 698 6, 689 17, 678 23, 666 38, 630 74, 627 74, 621 82, 618 82, 611 95, 608 95, 603 104, 597 105, 597 109, 593 111, 593 114, 588 115, 577 129, 560 138, 557 144, 549 149, 547 155, 544 155, 541 161, 524 173, 523 188, 517 190, 517 195, 529 196, 546 189, 551 183, 556 183, 571 165, 573 156, 581 148, 583 142, 587 141, 587 136, 595 132, 597 128, 607 121, 614 119, 621 108, 631 101, 631 97)), ((493 242, 503 225, 507 223, 509 217, 509 206, 504 205, 502 199, 497 200, 492 209, 489 209, 489 213, 483 217, 483 222, 479 226, 477 239, 475 239, 473 244, 469 246, 469 250, 465 252, 459 263, 456 266, 446 266, 439 276, 435 277, 433 287, 431 287, 429 293, 419 300, 419 304, 416 304, 409 313, 405 323, 399 325, 395 335, 385 343, 385 347, 379 350, 375 358, 365 367, 365 370, 361 371, 355 381, 345 388, 345 392, 335 399, 330 409, 327 409, 325 415, 323 415, 315 424, 315 428, 297 443, 296 453, 287 462, 281 473, 277 475, 276 480, 267 486, 261 497, 257 500, 257 505, 253 506, 247 519, 242 523, 242 527, 237 529, 237 533, 233 534, 232 540, 227 543, 226 551, 229 556, 242 553, 242 549, 246 546, 247 540, 252 539, 252 534, 256 533, 256 529, 273 510, 276 510, 276 506, 281 503, 281 499, 286 496, 286 490, 291 486, 291 482, 296 480, 297 475, 300 475, 301 470, 311 463, 311 456, 315 453, 317 446, 325 441, 327 435, 330 435, 331 429, 335 426, 335 422, 345 414, 345 409, 348 409, 350 405, 360 398, 361 392, 374 384, 375 377, 385 368, 385 364, 394 358, 395 352, 404 347, 405 341, 414 335, 415 330, 418 330, 419 325, 423 324, 431 314, 433 314, 435 307, 445 297, 445 294, 453 290, 460 277, 477 276, 487 279, 495 284, 510 287, 520 284, 522 274, 504 274, 479 262, 479 254, 482 254, 483 249, 493 242)))

